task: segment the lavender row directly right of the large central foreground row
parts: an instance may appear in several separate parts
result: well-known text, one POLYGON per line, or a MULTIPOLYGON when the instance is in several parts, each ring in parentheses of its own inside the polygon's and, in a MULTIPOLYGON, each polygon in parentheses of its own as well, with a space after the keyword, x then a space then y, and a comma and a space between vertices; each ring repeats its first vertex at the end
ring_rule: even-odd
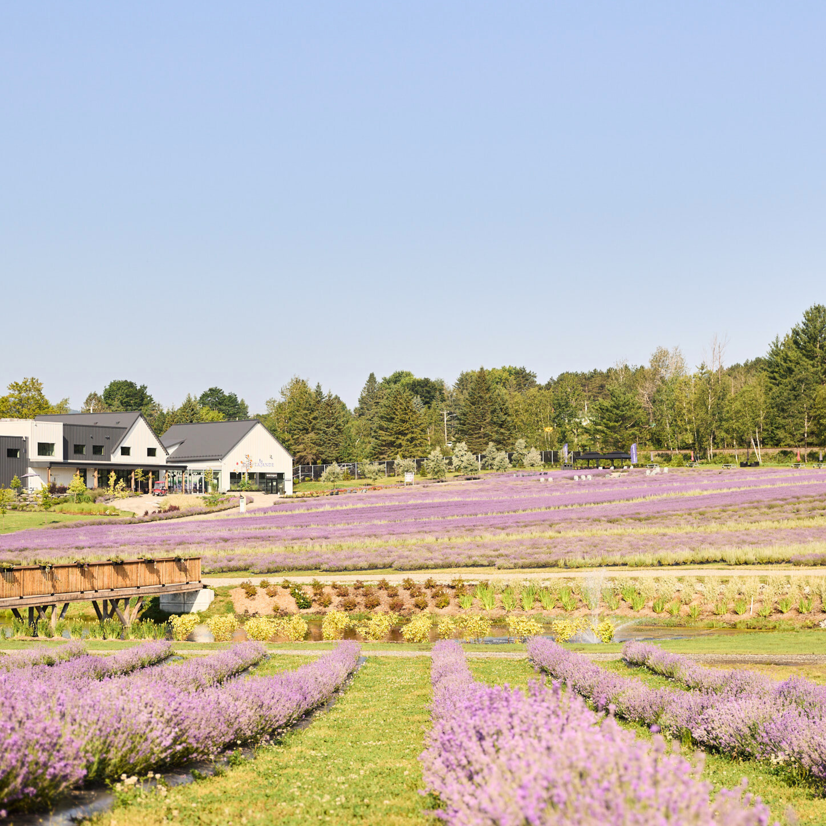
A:
POLYGON ((795 776, 826 780, 823 720, 809 716, 782 693, 739 691, 734 684, 724 691, 652 689, 546 638, 529 640, 528 656, 597 710, 610 708, 634 723, 658 726, 685 745, 766 760, 786 766, 795 776))

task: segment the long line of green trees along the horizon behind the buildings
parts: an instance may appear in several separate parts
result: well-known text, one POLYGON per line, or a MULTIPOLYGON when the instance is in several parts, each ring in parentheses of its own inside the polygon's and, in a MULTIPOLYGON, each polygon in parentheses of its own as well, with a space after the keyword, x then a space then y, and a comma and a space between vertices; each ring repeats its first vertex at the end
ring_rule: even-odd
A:
MULTIPOLYGON (((54 405, 35 378, 12 382, 0 396, 0 416, 30 417, 69 410, 54 405)), ((173 424, 247 418, 234 392, 211 387, 164 408, 145 385, 116 380, 90 393, 83 411, 140 410, 155 432, 173 424)), ((351 411, 320 384, 292 377, 255 415, 297 463, 423 457, 451 445, 473 453, 510 451, 518 439, 540 450, 628 449, 716 451, 826 444, 826 306, 771 342, 767 354, 725 364, 715 338, 690 370, 678 347, 654 350, 648 364, 564 372, 544 384, 525 367, 468 370, 453 384, 406 370, 378 379, 370 373, 351 411)))

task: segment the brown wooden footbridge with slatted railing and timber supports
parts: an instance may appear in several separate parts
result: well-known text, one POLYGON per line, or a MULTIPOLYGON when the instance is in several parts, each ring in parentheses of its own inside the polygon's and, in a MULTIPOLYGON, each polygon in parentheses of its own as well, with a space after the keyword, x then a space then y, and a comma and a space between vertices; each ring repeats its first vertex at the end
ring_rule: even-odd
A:
POLYGON ((130 625, 146 596, 204 587, 200 557, 18 565, 0 570, 0 609, 11 609, 22 621, 21 611, 27 611, 28 624, 48 619, 55 628, 73 602, 91 602, 101 622, 117 617, 130 625))

